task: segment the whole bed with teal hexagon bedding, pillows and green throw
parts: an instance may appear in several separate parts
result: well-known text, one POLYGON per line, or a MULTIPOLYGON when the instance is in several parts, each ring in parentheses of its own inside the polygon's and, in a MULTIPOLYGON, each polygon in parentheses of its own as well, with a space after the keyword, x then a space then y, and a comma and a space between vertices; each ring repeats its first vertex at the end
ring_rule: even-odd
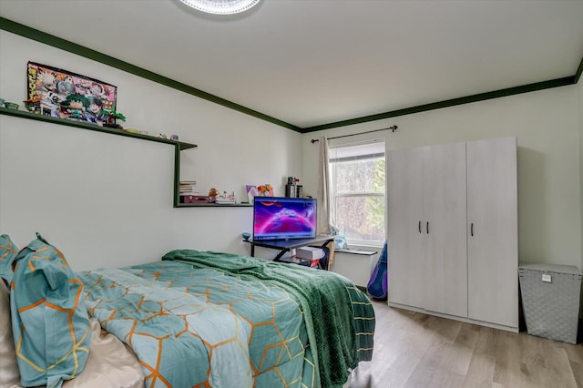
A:
MULTIPOLYGON (((142 373, 140 377, 132 370, 126 373, 126 385, 111 386, 333 387, 342 386, 359 362, 372 358, 373 307, 342 276, 198 250, 172 250, 161 259, 73 273, 62 253, 44 240, 36 239, 15 254, 10 296, 16 354, 26 349, 26 341, 37 343, 34 337, 43 332, 22 329, 38 321, 39 312, 33 312, 43 298, 38 307, 43 305, 44 331, 47 325, 55 327, 54 320, 46 319, 46 306, 60 295, 69 304, 61 303, 59 318, 66 317, 61 326, 71 350, 49 354, 55 346, 49 347, 45 338, 44 349, 37 353, 45 359, 73 359, 72 373, 60 366, 51 368, 54 362, 37 368, 44 371, 38 373, 19 354, 23 383, 37 385, 39 380, 24 377, 35 373, 44 374, 44 383, 52 386, 75 383, 87 370, 95 376, 91 363, 95 357, 87 355, 97 353, 92 341, 99 336, 118 341, 127 352, 121 358, 138 362, 142 373), (51 261, 66 273, 62 276, 66 291, 57 286, 43 295, 19 292, 25 281, 40 287, 32 284, 39 281, 32 267, 38 272, 40 263, 51 261), (78 325, 73 322, 76 314, 78 325)), ((56 270, 43 271, 50 279, 53 275, 46 273, 56 270)), ((61 347, 66 348, 56 346, 61 347)))

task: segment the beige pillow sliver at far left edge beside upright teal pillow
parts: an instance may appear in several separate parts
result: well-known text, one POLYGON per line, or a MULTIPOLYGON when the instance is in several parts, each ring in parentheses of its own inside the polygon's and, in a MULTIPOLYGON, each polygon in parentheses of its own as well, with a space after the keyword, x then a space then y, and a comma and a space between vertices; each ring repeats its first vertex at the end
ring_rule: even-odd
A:
POLYGON ((3 387, 16 386, 20 382, 11 327, 10 295, 4 281, 0 279, 0 385, 3 387))

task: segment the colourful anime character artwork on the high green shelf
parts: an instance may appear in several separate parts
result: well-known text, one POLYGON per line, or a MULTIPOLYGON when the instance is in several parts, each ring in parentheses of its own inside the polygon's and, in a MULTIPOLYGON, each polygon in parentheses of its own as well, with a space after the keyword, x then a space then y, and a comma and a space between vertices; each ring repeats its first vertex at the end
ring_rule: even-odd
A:
POLYGON ((35 62, 28 62, 26 77, 28 101, 41 115, 102 126, 116 110, 118 88, 97 79, 35 62))

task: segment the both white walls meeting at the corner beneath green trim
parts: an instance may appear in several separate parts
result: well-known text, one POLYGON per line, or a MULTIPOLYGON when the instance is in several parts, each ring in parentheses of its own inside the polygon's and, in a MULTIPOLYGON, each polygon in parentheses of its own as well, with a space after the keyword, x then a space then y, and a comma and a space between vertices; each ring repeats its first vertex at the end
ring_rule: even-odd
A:
MULTIPOLYGON (((182 151, 181 178, 196 179, 201 192, 216 187, 241 197, 243 185, 269 182, 283 194, 285 177, 298 176, 315 196, 318 147, 310 139, 322 133, 396 124, 395 133, 344 139, 384 137, 388 149, 517 136, 520 260, 583 267, 580 81, 299 135, 5 31, 0 46, 0 96, 26 98, 29 60, 116 85, 126 128, 199 145, 182 151)), ((175 248, 249 252, 240 232, 251 230, 251 208, 171 208, 172 161, 167 145, 0 116, 0 233, 22 246, 38 230, 76 270, 158 260, 175 248)))

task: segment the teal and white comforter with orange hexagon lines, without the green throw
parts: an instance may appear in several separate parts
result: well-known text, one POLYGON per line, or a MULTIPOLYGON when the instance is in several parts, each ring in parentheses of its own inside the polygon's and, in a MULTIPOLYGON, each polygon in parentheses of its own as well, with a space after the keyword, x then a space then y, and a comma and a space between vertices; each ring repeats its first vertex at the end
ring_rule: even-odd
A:
POLYGON ((137 353, 147 386, 252 386, 253 375, 277 376, 273 367, 280 358, 285 366, 298 354, 301 361, 293 370, 282 368, 282 377, 286 385, 302 377, 306 332, 298 304, 281 290, 246 286, 220 271, 192 271, 171 261, 78 276, 89 313, 137 353), (231 298, 230 291, 236 299, 221 301, 231 298), (245 309, 248 316, 233 312, 245 309), (279 326, 270 324, 274 320, 279 326), (251 362, 253 351, 261 354, 251 362), (230 362, 221 362, 225 358, 230 362))

